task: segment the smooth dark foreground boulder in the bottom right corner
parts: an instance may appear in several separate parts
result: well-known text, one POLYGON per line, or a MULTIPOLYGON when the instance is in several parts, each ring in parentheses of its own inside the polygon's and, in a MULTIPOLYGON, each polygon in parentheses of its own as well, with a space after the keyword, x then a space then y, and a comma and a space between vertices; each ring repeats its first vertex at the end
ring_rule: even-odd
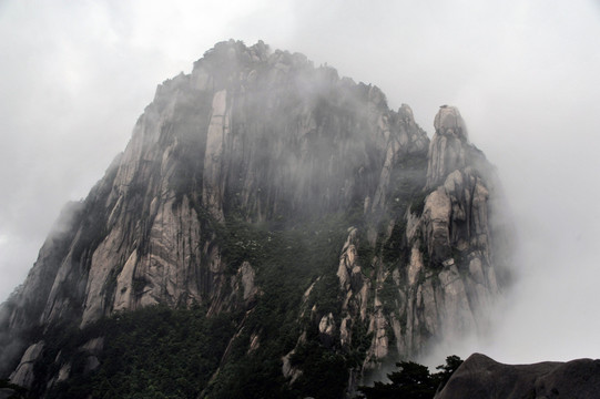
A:
POLYGON ((436 399, 598 398, 600 360, 502 365, 471 355, 455 371, 436 399))

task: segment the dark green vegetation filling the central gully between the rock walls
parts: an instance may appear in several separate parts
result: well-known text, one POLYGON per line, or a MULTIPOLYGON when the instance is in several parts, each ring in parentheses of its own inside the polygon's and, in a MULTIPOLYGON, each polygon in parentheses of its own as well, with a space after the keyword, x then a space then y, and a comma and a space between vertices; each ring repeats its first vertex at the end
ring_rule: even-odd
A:
POLYGON ((224 258, 234 269, 248 260, 256 269, 262 295, 246 314, 224 367, 204 395, 207 398, 336 397, 329 390, 345 389, 348 359, 355 355, 321 342, 315 319, 318 323, 323 315, 340 311, 335 273, 347 236, 346 217, 333 214, 285 231, 240 219, 231 219, 225 227, 222 232, 225 234, 220 234, 224 258), (303 295, 313 283, 312 295, 303 305, 303 295), (314 305, 317 306, 314 319, 308 319, 308 310, 298 320, 302 308, 311 309, 314 305), (289 387, 282 375, 281 359, 296 347, 304 328, 306 345, 298 348, 292 361, 303 375, 289 387), (250 350, 253 334, 258 337, 258 347, 250 350))

